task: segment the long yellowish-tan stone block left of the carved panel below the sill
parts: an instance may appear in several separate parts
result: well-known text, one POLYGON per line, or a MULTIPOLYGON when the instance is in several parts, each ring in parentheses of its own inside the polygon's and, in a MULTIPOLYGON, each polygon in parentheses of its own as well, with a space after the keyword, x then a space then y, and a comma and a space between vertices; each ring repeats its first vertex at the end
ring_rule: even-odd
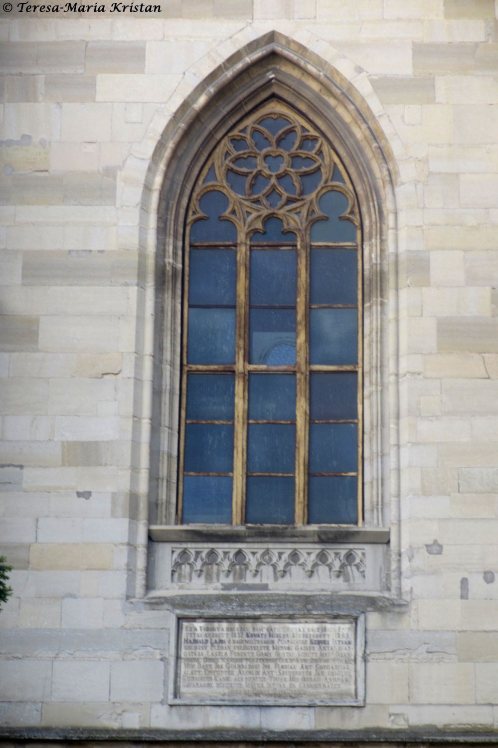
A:
POLYGON ((111 569, 113 547, 109 543, 43 543, 31 545, 34 569, 111 569))

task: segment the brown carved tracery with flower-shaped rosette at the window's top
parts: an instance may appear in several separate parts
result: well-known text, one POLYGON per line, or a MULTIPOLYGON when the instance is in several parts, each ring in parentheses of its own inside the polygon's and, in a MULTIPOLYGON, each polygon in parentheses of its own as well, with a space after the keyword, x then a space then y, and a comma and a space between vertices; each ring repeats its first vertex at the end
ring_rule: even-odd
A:
POLYGON ((189 223, 207 218, 200 207, 212 190, 229 201, 221 218, 239 230, 263 230, 277 215, 283 230, 306 231, 326 218, 319 200, 325 192, 342 192, 348 207, 342 220, 359 224, 356 200, 328 142, 301 117, 271 103, 246 118, 218 145, 194 193, 189 223))

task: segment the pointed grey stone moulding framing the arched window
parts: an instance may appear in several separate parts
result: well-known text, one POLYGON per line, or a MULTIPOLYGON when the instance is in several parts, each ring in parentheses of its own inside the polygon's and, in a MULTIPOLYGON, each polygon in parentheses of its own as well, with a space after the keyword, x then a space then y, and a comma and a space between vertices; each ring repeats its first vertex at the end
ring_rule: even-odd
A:
MULTIPOLYGON (((230 43, 233 45, 233 39, 230 43)), ((321 40, 314 44, 322 53, 325 46, 328 56, 339 64, 339 55, 330 45, 321 40)), ((202 69, 202 61, 199 66, 202 69)), ((358 85, 368 94, 369 102, 380 114, 381 106, 365 73, 345 58, 341 67, 348 70, 354 83, 317 55, 313 46, 310 50, 272 31, 233 53, 197 85, 170 117, 161 135, 159 121, 153 120, 143 150, 136 156, 132 154, 132 159, 143 158, 153 138, 159 138, 145 184, 142 183, 140 208, 139 355, 132 465, 138 574, 135 590, 129 589, 131 595, 140 597, 147 588, 147 521, 174 522, 182 230, 188 196, 219 139, 243 114, 272 96, 316 123, 339 153, 357 191, 363 224, 365 303, 365 525, 387 527, 391 521, 393 530, 394 521, 397 527, 398 313, 393 180, 399 180, 399 174, 391 147, 392 142, 397 142, 393 132, 387 140, 378 117, 356 88, 358 85)), ((401 149, 398 156, 403 158, 401 149)), ((130 171, 132 167, 131 164, 130 171)), ((134 180, 126 183, 126 174, 125 168, 122 204, 130 205, 136 203, 135 186, 134 180)), ((396 532, 391 533, 391 548, 391 592, 396 594, 396 532)), ((152 577, 150 581, 153 586, 152 577)))

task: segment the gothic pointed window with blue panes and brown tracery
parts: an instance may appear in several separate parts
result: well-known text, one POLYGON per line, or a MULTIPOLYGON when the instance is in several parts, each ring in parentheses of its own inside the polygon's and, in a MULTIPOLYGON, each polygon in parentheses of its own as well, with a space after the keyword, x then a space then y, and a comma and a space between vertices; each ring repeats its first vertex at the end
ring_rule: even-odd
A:
POLYGON ((360 215, 333 144, 270 99, 189 198, 179 524, 362 524, 360 215))

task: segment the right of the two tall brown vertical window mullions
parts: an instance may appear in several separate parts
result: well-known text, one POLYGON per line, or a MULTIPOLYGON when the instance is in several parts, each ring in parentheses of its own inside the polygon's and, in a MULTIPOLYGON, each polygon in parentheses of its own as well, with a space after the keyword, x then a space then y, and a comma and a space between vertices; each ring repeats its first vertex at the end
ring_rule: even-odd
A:
POLYGON ((295 524, 307 521, 308 438, 309 438, 309 341, 308 266, 309 242, 298 233, 298 278, 296 301, 296 433, 295 433, 295 524))

